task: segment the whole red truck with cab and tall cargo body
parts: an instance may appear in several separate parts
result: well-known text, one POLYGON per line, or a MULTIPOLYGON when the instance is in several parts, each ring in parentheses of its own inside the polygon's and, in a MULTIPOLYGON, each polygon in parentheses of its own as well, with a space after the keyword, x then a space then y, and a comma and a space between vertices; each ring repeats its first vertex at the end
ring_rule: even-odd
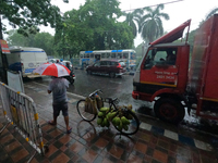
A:
POLYGON ((156 116, 170 123, 181 122, 185 108, 218 120, 218 14, 196 30, 192 53, 190 24, 191 20, 150 42, 133 79, 132 97, 155 101, 156 116), (186 39, 175 41, 186 27, 186 39))

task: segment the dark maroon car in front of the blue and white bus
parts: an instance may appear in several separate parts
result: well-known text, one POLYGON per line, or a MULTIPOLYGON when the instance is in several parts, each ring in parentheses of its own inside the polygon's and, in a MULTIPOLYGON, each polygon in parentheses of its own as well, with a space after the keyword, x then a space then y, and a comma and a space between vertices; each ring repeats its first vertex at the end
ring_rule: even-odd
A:
POLYGON ((125 71, 122 60, 100 60, 86 67, 87 74, 109 75, 111 78, 122 76, 125 71))

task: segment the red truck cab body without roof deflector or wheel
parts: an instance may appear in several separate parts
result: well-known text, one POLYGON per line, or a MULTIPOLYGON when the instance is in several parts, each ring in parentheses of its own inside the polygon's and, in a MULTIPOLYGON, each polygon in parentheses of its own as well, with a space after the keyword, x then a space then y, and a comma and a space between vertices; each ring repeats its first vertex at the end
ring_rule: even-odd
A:
POLYGON ((187 82, 190 46, 150 46, 133 80, 133 98, 153 101, 164 93, 183 93, 187 82))

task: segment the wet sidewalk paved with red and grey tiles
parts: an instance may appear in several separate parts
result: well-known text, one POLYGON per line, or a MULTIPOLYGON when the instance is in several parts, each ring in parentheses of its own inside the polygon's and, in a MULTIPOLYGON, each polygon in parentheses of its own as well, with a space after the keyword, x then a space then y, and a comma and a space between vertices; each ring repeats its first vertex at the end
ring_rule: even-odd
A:
MULTIPOLYGON (((45 156, 37 154, 32 163, 218 163, 218 151, 205 137, 204 141, 204 138, 186 136, 177 129, 161 128, 142 116, 141 129, 131 137, 118 135, 113 127, 98 127, 96 121, 84 122, 76 111, 76 102, 83 97, 72 93, 68 97, 73 131, 68 135, 62 115, 57 127, 47 124, 52 120, 52 97, 47 93, 47 87, 25 84, 25 93, 37 105, 44 143, 49 146, 49 152, 45 156)), ((0 109, 0 128, 5 123, 0 109)), ((0 135, 0 162, 23 163, 33 153, 34 149, 13 126, 8 126, 0 135)))

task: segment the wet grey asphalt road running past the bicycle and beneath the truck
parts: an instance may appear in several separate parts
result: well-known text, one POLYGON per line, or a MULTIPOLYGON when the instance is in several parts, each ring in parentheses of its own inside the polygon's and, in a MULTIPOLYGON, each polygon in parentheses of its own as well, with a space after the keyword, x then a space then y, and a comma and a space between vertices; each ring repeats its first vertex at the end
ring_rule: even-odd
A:
MULTIPOLYGON (((76 93, 80 96, 88 96, 96 89, 102 90, 102 98, 118 98, 120 100, 119 104, 132 104, 133 109, 136 110, 144 116, 148 116, 146 121, 154 121, 153 123, 159 123, 158 125, 165 125, 167 127, 171 126, 171 124, 166 124, 164 122, 159 122, 153 112, 153 103, 134 100, 132 98, 133 90, 133 76, 124 75, 123 77, 110 78, 109 76, 99 76, 99 75, 87 75, 85 71, 75 70, 74 71, 76 79, 74 85, 70 85, 68 91, 72 93, 76 93)), ((39 84, 48 85, 50 82, 50 77, 35 78, 28 82, 36 82, 39 84)), ((171 126, 174 127, 174 126, 171 126)), ((218 124, 217 122, 207 122, 202 121, 195 116, 194 112, 191 115, 185 114, 184 121, 180 124, 182 129, 190 130, 193 133, 194 130, 206 131, 213 135, 218 136, 218 124)))

